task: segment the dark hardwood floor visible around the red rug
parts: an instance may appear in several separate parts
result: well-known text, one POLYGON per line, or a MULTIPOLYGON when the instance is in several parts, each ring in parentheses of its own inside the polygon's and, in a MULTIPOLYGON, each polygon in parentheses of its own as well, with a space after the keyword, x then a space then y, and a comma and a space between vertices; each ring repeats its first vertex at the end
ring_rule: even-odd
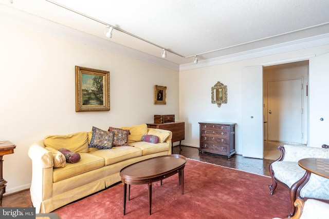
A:
MULTIPOLYGON (((203 152, 199 154, 198 148, 181 146, 174 147, 173 154, 181 154, 187 158, 193 160, 207 162, 211 164, 217 164, 225 167, 230 167, 238 170, 243 170, 246 172, 252 172, 260 175, 269 176, 268 166, 272 160, 267 159, 255 159, 243 157, 241 155, 233 155, 231 158, 227 156, 206 153, 203 152)), ((30 191, 28 189, 20 192, 15 192, 9 195, 4 194, 2 207, 32 207, 32 202, 30 198, 30 191)))

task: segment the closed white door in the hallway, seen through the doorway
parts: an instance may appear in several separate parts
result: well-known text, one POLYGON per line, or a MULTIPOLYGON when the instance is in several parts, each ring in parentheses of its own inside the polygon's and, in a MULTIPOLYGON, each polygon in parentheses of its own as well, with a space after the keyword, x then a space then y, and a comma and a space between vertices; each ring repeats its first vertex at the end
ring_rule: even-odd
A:
POLYGON ((302 79, 267 83, 267 136, 269 141, 302 144, 302 79))

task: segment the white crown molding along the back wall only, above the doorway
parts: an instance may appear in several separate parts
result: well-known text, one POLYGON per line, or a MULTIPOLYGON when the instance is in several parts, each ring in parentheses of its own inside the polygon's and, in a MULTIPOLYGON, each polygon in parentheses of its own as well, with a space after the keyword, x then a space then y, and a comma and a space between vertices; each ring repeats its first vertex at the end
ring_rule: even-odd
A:
POLYGON ((199 61, 197 65, 193 63, 181 64, 179 66, 179 71, 204 68, 214 65, 222 65, 225 63, 238 62, 245 59, 258 58, 268 55, 275 55, 284 52, 292 52, 292 51, 309 49, 309 48, 325 46, 325 45, 329 45, 329 33, 298 39, 296 41, 291 41, 287 43, 263 47, 259 49, 248 50, 245 52, 225 55, 221 57, 209 58, 206 60, 199 61))

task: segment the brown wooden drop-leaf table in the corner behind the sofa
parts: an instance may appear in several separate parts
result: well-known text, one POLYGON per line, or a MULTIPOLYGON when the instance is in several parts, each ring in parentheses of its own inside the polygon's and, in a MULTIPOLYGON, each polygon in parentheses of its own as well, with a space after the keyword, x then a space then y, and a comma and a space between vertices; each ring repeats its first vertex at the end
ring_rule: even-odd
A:
POLYGON ((173 122, 173 123, 148 123, 148 128, 165 129, 173 133, 172 143, 179 142, 185 139, 185 122, 173 122))

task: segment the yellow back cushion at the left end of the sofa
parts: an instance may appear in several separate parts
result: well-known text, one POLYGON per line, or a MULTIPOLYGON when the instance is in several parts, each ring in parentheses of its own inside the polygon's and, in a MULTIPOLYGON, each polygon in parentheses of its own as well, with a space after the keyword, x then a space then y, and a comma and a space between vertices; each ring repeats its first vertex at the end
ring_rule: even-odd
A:
POLYGON ((48 135, 44 139, 44 145, 55 150, 67 148, 76 153, 84 153, 88 152, 88 135, 87 132, 77 132, 67 135, 48 135))

